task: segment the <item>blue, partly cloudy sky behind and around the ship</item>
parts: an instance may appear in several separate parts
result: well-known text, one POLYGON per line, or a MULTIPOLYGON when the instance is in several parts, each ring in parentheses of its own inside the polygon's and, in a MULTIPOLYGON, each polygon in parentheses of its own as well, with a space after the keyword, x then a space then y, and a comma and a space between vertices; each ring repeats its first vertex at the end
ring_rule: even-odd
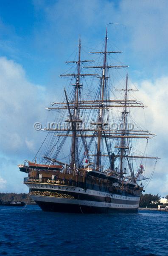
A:
MULTIPOLYGON (((45 107, 64 86, 59 74, 81 37, 86 52, 108 38, 148 106, 158 160, 146 193, 168 195, 168 1, 0 0, 0 192, 28 192, 17 164, 33 159, 45 107)), ((97 49, 97 48, 96 48, 97 49)))

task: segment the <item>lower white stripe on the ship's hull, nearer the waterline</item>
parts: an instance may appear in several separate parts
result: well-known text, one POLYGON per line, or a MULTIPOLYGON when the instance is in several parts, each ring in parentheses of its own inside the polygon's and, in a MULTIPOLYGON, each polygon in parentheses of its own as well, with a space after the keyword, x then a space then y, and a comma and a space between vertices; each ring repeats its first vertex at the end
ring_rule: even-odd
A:
POLYGON ((55 204, 72 204, 72 205, 81 205, 81 206, 89 206, 89 207, 103 207, 110 209, 137 209, 139 204, 113 204, 107 202, 97 202, 97 201, 86 201, 86 200, 78 200, 78 199, 69 199, 69 198, 56 198, 50 196, 42 196, 42 195, 31 195, 31 198, 37 202, 46 202, 46 203, 55 203, 55 204))

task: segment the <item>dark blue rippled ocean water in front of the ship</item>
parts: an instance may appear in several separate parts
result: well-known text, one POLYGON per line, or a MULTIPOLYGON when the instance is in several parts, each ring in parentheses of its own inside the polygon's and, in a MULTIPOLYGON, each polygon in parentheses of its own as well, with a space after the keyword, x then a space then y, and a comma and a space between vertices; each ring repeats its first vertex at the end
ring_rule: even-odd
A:
POLYGON ((168 213, 88 215, 1 206, 0 255, 168 256, 168 213))

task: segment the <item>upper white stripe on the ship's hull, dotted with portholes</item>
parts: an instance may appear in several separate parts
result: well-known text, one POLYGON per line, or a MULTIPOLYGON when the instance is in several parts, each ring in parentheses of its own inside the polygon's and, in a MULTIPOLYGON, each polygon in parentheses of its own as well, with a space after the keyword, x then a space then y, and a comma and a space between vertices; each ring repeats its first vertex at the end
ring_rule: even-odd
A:
POLYGON ((83 189, 80 187, 75 187, 75 186, 64 186, 64 185, 55 185, 53 186, 52 184, 39 184, 39 183, 32 183, 26 184, 30 189, 50 189, 53 191, 64 191, 64 192, 73 192, 73 193, 78 193, 83 194, 83 195, 93 195, 93 196, 99 196, 99 197, 110 197, 112 199, 118 199, 118 200, 126 200, 126 201, 139 201, 140 197, 133 197, 133 196, 123 196, 123 195, 116 195, 116 194, 112 194, 109 192, 101 192, 101 191, 97 191, 94 189, 83 189))

